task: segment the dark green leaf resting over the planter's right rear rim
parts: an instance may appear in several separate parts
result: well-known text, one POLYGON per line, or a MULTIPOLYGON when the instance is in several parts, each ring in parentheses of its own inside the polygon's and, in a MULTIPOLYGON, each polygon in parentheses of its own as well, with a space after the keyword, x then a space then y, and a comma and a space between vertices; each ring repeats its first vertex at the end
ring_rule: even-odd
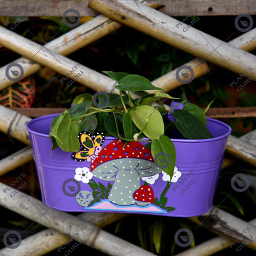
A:
POLYGON ((186 110, 174 110, 174 124, 178 131, 188 139, 213 138, 209 130, 196 116, 186 110))

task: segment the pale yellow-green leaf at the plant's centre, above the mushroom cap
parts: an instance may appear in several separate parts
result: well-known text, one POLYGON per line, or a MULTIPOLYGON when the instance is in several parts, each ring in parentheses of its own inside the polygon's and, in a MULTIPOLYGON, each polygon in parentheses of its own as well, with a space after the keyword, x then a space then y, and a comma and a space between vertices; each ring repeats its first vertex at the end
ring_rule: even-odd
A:
POLYGON ((146 129, 143 130, 143 134, 151 140, 158 139, 162 134, 164 134, 164 121, 162 121, 162 116, 158 110, 155 110, 152 106, 140 105, 136 108, 130 108, 130 116, 132 116, 132 121, 134 121, 135 126, 142 130, 146 124, 146 117, 148 114, 148 124, 146 129), (153 113, 151 113, 153 111, 153 113))

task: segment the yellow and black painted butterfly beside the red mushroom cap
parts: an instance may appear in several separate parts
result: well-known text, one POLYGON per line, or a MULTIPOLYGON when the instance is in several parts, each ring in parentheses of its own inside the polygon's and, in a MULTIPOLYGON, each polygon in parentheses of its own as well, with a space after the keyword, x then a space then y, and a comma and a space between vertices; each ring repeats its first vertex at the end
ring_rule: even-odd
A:
POLYGON ((87 132, 79 132, 80 150, 72 154, 74 161, 93 162, 102 150, 102 144, 105 140, 103 132, 97 135, 90 135, 87 132))

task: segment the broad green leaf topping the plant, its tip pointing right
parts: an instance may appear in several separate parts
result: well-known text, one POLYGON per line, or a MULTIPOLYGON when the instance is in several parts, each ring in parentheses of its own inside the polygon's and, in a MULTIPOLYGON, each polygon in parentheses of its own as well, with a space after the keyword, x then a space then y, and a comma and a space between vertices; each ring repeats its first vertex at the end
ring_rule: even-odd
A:
POLYGON ((129 74, 128 76, 125 76, 119 80, 116 89, 128 90, 130 92, 155 89, 163 90, 159 87, 153 86, 148 79, 143 78, 143 76, 139 76, 138 74, 129 74))

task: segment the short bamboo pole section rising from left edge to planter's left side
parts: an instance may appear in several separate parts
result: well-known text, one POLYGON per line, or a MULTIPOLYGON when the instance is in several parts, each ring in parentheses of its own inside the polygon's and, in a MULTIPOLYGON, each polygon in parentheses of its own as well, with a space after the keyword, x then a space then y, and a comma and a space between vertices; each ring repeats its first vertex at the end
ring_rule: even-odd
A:
POLYGON ((19 150, 14 154, 11 154, 10 156, 7 156, 6 158, 0 160, 0 176, 32 160, 32 148, 30 146, 27 146, 26 148, 23 148, 22 150, 19 150))

